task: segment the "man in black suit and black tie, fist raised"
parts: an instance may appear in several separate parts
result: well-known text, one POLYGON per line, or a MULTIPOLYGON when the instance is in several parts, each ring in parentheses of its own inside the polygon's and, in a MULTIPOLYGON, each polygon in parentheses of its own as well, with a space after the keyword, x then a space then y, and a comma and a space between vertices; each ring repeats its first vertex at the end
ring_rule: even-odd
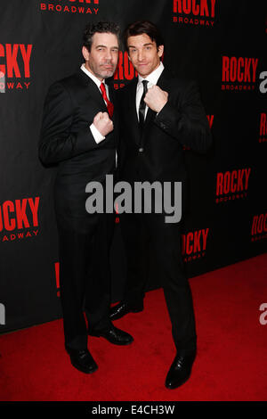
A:
MULTIPOLYGON (((211 144, 205 111, 194 82, 174 78, 160 58, 164 42, 150 21, 125 30, 125 47, 138 72, 120 93, 120 178, 134 182, 182 182, 186 185, 183 145, 204 152, 211 144)), ((173 198, 172 198, 173 199, 173 198)), ((153 207, 152 207, 153 208, 153 207)), ((124 299, 111 308, 115 320, 143 309, 149 242, 161 267, 162 286, 177 349, 166 376, 174 389, 190 377, 196 356, 196 330, 190 285, 182 267, 181 223, 166 223, 166 214, 122 214, 127 256, 124 299)))

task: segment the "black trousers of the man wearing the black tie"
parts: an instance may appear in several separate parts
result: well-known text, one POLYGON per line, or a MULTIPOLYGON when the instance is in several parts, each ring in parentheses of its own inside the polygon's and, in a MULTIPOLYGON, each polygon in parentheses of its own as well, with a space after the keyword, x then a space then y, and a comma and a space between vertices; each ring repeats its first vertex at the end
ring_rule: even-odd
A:
POLYGON ((157 260, 176 349, 181 353, 196 349, 194 309, 182 264, 180 224, 166 224, 162 214, 122 214, 121 229, 127 257, 124 300, 130 304, 142 301, 149 263, 157 260))

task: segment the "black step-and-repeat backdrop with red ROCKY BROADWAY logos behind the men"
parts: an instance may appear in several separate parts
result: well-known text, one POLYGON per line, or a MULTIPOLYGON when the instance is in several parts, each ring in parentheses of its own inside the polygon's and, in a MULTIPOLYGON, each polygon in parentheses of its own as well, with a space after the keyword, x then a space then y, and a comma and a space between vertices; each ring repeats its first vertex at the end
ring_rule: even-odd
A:
MULTIPOLYGON (((37 157, 44 96, 83 62, 87 22, 149 19, 161 29, 164 64, 198 80, 214 143, 184 150, 190 210, 182 256, 190 277, 266 251, 267 11, 232 0, 2 0, 0 12, 0 333, 61 316, 56 168, 37 157)), ((136 77, 120 52, 114 86, 136 77)), ((119 220, 111 251, 112 298, 122 295, 119 220)), ((158 286, 151 255, 148 289, 158 286)), ((196 280, 198 280, 196 278, 196 280)), ((201 279, 199 279, 201 280, 201 279)), ((253 278, 252 278, 253 280, 253 278)))

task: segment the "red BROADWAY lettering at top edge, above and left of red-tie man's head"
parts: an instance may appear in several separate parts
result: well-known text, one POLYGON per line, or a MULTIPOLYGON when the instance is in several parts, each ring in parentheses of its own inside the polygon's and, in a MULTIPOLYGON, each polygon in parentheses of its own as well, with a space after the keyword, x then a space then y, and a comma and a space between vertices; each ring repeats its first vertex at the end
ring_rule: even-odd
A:
POLYGON ((100 0, 49 0, 40 3, 42 12, 77 13, 96 15, 100 0))

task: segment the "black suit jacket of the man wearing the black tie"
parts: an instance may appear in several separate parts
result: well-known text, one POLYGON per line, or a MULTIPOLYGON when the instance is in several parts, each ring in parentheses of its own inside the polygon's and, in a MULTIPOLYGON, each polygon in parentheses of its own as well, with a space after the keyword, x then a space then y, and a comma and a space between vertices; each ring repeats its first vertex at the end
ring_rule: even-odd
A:
POLYGON ((158 115, 149 108, 142 136, 135 104, 136 86, 137 79, 134 79, 118 94, 119 177, 130 183, 145 180, 181 181, 182 195, 185 197, 187 176, 183 145, 206 152, 212 142, 198 85, 194 81, 174 78, 163 70, 158 86, 169 94, 168 102, 158 115))

